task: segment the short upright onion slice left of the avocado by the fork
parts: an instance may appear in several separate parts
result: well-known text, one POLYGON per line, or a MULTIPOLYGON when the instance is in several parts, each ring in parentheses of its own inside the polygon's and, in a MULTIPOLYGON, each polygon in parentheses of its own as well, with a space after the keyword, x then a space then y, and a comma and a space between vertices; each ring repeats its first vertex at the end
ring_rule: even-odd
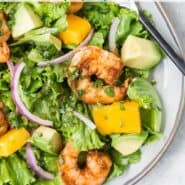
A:
POLYGON ((118 17, 115 17, 109 31, 109 50, 114 52, 116 50, 116 31, 120 20, 118 17))

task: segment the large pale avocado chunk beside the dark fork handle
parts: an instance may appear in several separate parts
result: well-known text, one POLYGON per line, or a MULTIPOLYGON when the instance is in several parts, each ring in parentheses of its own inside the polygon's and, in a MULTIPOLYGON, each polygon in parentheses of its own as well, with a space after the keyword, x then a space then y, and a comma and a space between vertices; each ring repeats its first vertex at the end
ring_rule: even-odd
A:
POLYGON ((125 65, 135 69, 150 69, 157 65, 162 52, 155 42, 129 35, 121 49, 125 65))

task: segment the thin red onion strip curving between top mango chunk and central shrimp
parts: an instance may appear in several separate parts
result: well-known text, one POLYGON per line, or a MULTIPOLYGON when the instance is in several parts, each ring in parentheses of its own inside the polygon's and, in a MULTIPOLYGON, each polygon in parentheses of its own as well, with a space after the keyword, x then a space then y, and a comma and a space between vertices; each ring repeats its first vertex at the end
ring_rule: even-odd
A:
POLYGON ((93 33, 94 33, 94 29, 91 29, 91 31, 89 32, 88 36, 73 51, 70 51, 69 53, 67 53, 65 55, 62 55, 62 56, 60 56, 58 58, 55 58, 53 60, 50 60, 50 61, 42 61, 42 62, 39 62, 37 65, 40 66, 40 67, 43 67, 43 66, 48 66, 48 65, 60 64, 60 63, 62 63, 64 61, 66 61, 67 59, 69 59, 72 56, 74 56, 75 53, 78 52, 78 49, 79 48, 81 48, 83 46, 86 46, 89 43, 89 41, 91 40, 91 38, 93 36, 93 33))

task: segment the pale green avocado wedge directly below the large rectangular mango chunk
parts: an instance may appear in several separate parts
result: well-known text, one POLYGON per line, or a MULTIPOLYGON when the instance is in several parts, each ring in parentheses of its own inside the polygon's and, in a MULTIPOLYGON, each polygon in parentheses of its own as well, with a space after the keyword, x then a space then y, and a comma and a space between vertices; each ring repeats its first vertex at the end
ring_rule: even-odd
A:
POLYGON ((112 147, 122 155, 127 156, 136 152, 148 137, 148 132, 141 134, 112 135, 112 147))

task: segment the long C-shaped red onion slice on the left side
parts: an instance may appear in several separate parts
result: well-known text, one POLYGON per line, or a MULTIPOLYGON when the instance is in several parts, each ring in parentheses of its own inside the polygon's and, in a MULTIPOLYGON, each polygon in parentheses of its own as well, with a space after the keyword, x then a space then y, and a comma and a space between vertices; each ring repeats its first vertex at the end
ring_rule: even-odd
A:
POLYGON ((24 115, 27 119, 29 119, 30 121, 37 123, 39 125, 45 125, 45 126, 52 126, 53 123, 52 121, 49 120, 44 120, 34 114, 32 114, 23 104, 23 102, 21 101, 21 98, 19 96, 19 79, 21 76, 21 72, 25 67, 25 63, 21 62, 19 64, 17 64, 15 66, 14 69, 14 75, 11 81, 11 94, 12 94, 12 99, 18 109, 18 111, 24 115))

